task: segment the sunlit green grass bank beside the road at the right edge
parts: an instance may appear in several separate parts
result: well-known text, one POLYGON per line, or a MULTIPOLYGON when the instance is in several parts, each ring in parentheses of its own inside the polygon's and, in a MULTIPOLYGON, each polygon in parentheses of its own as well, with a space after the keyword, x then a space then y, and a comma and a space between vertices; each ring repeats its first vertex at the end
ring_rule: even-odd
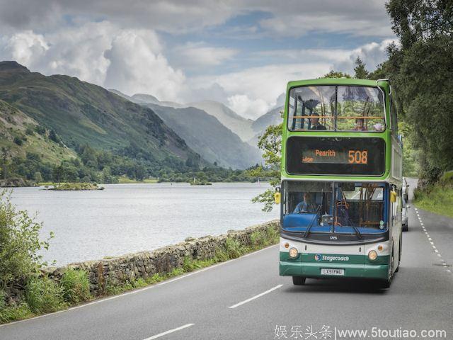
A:
POLYGON ((420 209, 453 217, 453 186, 441 180, 440 183, 423 191, 415 189, 414 203, 420 209))

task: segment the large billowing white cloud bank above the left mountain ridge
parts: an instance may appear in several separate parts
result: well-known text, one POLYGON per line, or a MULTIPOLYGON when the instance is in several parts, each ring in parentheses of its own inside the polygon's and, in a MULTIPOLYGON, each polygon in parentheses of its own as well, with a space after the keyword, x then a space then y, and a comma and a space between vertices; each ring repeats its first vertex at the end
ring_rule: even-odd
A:
POLYGON ((0 40, 0 59, 43 74, 67 74, 126 94, 176 100, 185 77, 168 64, 152 30, 122 30, 102 21, 38 35, 25 30, 0 40))

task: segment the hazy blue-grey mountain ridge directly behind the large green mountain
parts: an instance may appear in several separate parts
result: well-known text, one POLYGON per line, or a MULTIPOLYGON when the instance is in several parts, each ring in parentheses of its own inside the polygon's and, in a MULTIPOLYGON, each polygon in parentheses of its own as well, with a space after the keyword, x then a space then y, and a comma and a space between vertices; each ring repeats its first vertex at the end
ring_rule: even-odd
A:
POLYGON ((217 118, 198 108, 170 108, 143 104, 151 108, 191 149, 208 162, 233 169, 246 169, 261 162, 260 152, 225 128, 217 118))

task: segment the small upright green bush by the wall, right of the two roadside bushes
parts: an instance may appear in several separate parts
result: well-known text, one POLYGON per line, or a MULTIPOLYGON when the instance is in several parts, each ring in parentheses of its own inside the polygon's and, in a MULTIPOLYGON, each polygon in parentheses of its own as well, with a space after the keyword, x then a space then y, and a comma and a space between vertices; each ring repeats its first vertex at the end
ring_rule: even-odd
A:
POLYGON ((60 284, 65 301, 77 304, 81 301, 90 300, 90 282, 86 271, 76 271, 69 268, 64 272, 60 284))

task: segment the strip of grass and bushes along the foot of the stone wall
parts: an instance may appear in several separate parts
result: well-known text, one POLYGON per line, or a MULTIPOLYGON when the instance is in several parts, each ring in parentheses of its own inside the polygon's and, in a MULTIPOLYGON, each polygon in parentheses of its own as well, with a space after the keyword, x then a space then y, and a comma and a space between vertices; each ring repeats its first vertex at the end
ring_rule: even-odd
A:
POLYGON ((76 271, 68 268, 58 282, 47 276, 31 276, 25 287, 25 295, 16 304, 6 305, 4 292, 0 290, 0 323, 28 319, 48 312, 65 310, 68 307, 95 300, 99 297, 117 295, 129 290, 144 288, 184 273, 212 266, 215 263, 237 259, 242 255, 278 242, 279 233, 273 227, 268 227, 263 232, 253 232, 250 246, 244 246, 235 239, 228 237, 225 246, 217 248, 212 259, 199 260, 186 257, 182 266, 173 268, 169 273, 156 273, 148 278, 128 280, 121 284, 115 283, 111 278, 107 278, 103 292, 98 296, 91 295, 88 276, 85 271, 76 271))

